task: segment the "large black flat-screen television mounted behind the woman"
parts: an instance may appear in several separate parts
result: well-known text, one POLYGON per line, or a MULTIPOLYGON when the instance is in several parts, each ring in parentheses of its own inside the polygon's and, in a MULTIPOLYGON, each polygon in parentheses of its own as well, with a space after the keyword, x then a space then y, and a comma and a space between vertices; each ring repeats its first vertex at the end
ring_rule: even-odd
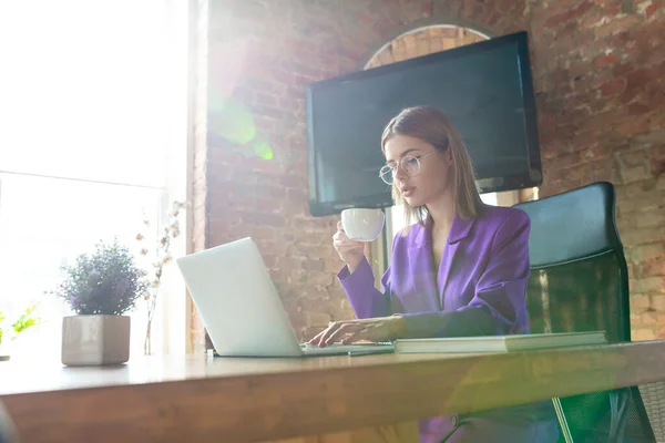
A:
POLYGON ((542 183, 526 32, 311 83, 306 91, 309 210, 391 206, 381 132, 431 105, 460 130, 481 192, 542 183))

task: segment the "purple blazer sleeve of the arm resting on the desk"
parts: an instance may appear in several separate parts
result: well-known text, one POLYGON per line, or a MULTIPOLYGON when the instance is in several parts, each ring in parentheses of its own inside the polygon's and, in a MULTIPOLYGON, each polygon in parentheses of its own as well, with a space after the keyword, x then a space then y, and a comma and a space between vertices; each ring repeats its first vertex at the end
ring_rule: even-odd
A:
POLYGON ((469 305, 457 311, 403 313, 410 337, 451 337, 524 332, 530 275, 531 220, 511 212, 497 229, 491 256, 469 305), (464 330, 458 330, 463 328, 464 330), (477 333, 474 333, 477 332, 477 333))

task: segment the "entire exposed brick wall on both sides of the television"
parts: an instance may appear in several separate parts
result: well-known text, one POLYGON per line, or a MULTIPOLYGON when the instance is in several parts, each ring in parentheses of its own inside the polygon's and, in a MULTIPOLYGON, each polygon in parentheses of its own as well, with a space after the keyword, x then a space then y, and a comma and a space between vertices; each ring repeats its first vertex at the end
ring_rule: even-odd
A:
POLYGON ((335 281, 337 218, 307 212, 305 85, 362 69, 383 43, 419 25, 458 24, 490 35, 529 29, 545 169, 540 195, 597 179, 617 185, 635 338, 663 334, 659 4, 211 0, 206 246, 252 235, 300 337, 351 316, 335 281))

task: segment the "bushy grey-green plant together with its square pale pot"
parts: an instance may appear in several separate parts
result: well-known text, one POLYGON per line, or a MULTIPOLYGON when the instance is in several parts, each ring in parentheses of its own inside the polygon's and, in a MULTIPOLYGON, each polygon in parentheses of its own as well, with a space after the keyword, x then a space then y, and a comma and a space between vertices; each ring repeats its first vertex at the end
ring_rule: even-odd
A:
POLYGON ((91 255, 80 255, 73 266, 62 269, 65 278, 53 293, 76 312, 62 319, 62 363, 126 362, 131 321, 124 313, 134 309, 145 293, 145 271, 117 239, 111 244, 100 241, 91 255))

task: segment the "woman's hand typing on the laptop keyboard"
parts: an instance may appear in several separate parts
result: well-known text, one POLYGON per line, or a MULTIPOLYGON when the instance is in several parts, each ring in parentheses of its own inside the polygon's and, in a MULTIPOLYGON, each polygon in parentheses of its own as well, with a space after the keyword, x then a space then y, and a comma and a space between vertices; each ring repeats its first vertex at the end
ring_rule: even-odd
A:
POLYGON ((389 341, 403 337, 403 333, 405 319, 400 316, 342 320, 330 322, 328 328, 309 340, 309 343, 325 347, 335 342, 347 344, 358 340, 389 341))

